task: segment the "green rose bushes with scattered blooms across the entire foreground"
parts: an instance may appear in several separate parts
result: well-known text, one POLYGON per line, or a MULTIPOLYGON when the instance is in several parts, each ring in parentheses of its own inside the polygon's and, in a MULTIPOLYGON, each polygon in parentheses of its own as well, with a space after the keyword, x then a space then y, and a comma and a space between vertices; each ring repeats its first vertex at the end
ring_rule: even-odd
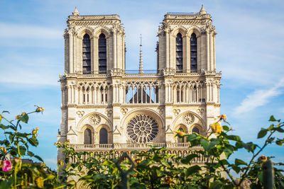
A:
MULTIPOLYGON (((43 110, 36 106, 31 113, 43 110)), ((276 138, 275 133, 283 136, 284 122, 273 116, 269 119, 271 125, 258 132, 258 139, 266 137, 262 146, 229 134, 232 128, 226 122, 226 115, 219 116, 207 136, 179 131, 177 137, 185 137, 190 147, 202 147, 202 150, 192 149, 192 154, 184 158, 166 154, 164 148, 152 147, 148 151, 132 151, 137 159, 128 155, 111 159, 111 151, 108 155, 77 152, 68 141, 58 142, 55 145, 66 158, 65 162, 58 161, 56 174, 29 149, 38 146, 38 127, 29 133, 21 132, 31 113, 17 115, 14 120, 5 118, 5 113, 8 112, 0 114, 0 188, 127 188, 126 182, 130 188, 284 188, 280 169, 284 164, 271 164, 271 157, 261 155, 269 144, 283 146, 284 138, 276 138), (220 124, 222 121, 224 126, 220 124), (229 159, 240 149, 251 154, 249 161, 229 159), (38 159, 42 164, 23 164, 23 156, 38 159), (206 157, 207 161, 192 164, 198 156, 206 157), (76 163, 68 163, 71 158, 76 163)))

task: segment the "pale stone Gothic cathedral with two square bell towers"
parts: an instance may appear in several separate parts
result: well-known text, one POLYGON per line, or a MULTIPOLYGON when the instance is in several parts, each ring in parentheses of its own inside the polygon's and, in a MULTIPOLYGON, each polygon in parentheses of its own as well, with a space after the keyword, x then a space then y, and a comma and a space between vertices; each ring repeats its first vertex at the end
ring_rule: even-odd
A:
POLYGON ((175 133, 206 134, 219 115, 212 17, 203 6, 166 13, 152 73, 143 68, 142 45, 139 69, 126 69, 121 25, 116 14, 80 15, 77 8, 67 18, 58 142, 69 140, 77 151, 188 150, 175 133))

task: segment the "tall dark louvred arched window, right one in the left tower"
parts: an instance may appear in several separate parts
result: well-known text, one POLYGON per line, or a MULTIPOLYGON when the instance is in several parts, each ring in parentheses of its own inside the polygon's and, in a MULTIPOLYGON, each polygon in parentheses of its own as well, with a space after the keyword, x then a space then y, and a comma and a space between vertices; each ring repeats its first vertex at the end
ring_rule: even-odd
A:
POLYGON ((102 33, 99 35, 99 74, 107 73, 107 39, 102 33))

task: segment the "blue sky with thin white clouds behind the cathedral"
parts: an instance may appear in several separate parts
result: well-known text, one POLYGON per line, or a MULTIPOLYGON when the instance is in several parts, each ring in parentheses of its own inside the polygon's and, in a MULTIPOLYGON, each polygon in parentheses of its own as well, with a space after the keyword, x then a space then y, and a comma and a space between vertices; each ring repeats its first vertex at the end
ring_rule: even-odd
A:
MULTIPOLYGON (((222 71, 221 113, 233 134, 257 142, 258 130, 268 127, 270 115, 284 119, 284 1, 180 0, 1 0, 0 110, 13 119, 21 112, 45 108, 31 115, 23 130, 39 127, 39 146, 33 151, 55 168, 61 119, 59 74, 64 73, 67 16, 77 6, 81 15, 118 14, 126 32, 126 69, 138 69, 140 34, 144 69, 156 69, 158 25, 166 12, 210 13, 217 30, 217 71, 222 71)), ((278 137, 283 137, 278 135, 278 137)), ((241 152, 243 153, 243 152, 241 152)), ((271 146, 263 155, 284 161, 283 147, 271 146)), ((236 154, 239 156, 240 154, 236 154)), ((241 154, 249 159, 247 154, 241 154)))

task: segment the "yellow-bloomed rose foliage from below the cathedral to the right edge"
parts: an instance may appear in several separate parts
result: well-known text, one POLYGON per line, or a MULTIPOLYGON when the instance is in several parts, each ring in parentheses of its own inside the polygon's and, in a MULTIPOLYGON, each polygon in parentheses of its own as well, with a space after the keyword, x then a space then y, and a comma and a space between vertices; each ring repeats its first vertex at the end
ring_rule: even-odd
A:
MULTIPOLYGON (((271 157, 259 156, 268 144, 283 146, 284 139, 273 137, 275 132, 283 133, 284 123, 275 120, 267 129, 258 132, 258 138, 268 137, 263 146, 253 142, 243 142, 236 135, 229 134, 231 128, 226 122, 226 116, 221 115, 218 122, 211 125, 207 136, 197 133, 186 134, 177 132, 178 137, 186 137, 190 147, 202 147, 192 149, 192 154, 183 158, 167 154, 167 149, 152 147, 149 151, 132 151, 131 156, 136 156, 135 168, 130 173, 129 182, 131 188, 238 188, 249 183, 251 188, 263 188, 262 164, 271 157), (224 121, 226 125, 221 126, 224 121), (242 159, 229 160, 231 154, 246 149, 251 154, 250 161, 242 159), (204 164, 193 164, 193 159, 204 157, 204 164), (259 158, 258 158, 259 157, 259 158), (234 178, 233 173, 241 174, 240 178, 234 178)), ((121 183, 121 173, 116 166, 117 159, 112 158, 114 151, 107 155, 94 154, 92 152, 77 152, 69 142, 57 143, 66 155, 64 170, 67 178, 79 176, 84 185, 92 188, 117 188, 121 183), (75 163, 70 162, 75 160, 75 163)), ((283 170, 278 167, 284 164, 275 164, 275 188, 284 188, 283 170)), ((121 168, 128 170, 131 166, 129 160, 120 164, 121 168)), ((75 185, 75 181, 72 181, 75 185)))

